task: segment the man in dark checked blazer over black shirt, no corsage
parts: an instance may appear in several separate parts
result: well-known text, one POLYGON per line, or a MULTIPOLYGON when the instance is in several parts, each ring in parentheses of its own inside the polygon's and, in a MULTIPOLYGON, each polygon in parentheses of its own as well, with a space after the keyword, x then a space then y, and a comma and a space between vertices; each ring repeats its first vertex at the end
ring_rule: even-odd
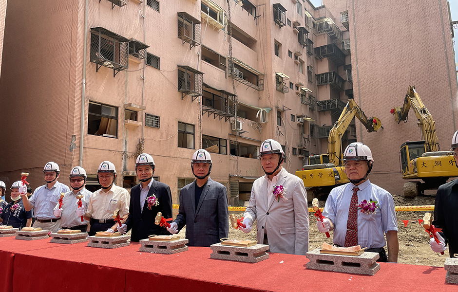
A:
POLYGON ((195 151, 191 160, 196 180, 180 191, 180 208, 169 232, 175 234, 186 225, 188 245, 210 246, 228 237, 228 196, 224 185, 210 179, 211 158, 207 150, 195 151))

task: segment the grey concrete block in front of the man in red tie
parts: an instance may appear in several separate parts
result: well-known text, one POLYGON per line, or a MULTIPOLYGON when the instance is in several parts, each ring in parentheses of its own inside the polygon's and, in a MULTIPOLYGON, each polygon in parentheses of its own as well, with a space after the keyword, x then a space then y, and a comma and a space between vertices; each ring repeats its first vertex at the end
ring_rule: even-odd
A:
POLYGON ((373 275, 380 270, 376 262, 378 253, 365 252, 360 256, 340 256, 320 254, 320 249, 314 249, 305 254, 310 260, 307 269, 332 271, 350 274, 373 275))

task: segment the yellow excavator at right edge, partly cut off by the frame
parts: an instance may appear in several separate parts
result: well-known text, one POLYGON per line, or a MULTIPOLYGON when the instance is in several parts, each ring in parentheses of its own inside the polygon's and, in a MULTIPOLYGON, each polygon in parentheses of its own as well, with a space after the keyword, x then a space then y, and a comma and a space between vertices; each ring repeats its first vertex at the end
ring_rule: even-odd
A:
POLYGON ((395 107, 391 113, 396 122, 408 120, 409 110, 415 112, 421 129, 422 141, 406 141, 401 145, 400 164, 404 180, 421 180, 404 183, 404 197, 415 198, 425 190, 437 189, 451 177, 458 176, 455 158, 451 151, 439 151, 436 126, 431 113, 423 105, 415 86, 409 86, 402 107, 395 107))

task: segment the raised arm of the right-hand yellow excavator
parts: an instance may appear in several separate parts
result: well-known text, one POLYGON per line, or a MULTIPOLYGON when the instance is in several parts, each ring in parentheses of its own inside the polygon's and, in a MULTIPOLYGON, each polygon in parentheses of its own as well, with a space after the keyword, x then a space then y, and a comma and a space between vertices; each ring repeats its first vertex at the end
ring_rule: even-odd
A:
POLYGON ((421 101, 420 95, 415 91, 415 86, 409 86, 409 90, 404 98, 402 107, 395 107, 391 113, 395 116, 398 124, 403 121, 407 122, 409 110, 412 108, 415 116, 418 119, 418 126, 421 129, 421 134, 425 140, 426 151, 439 151, 439 141, 436 134, 436 125, 431 113, 426 109, 421 101))

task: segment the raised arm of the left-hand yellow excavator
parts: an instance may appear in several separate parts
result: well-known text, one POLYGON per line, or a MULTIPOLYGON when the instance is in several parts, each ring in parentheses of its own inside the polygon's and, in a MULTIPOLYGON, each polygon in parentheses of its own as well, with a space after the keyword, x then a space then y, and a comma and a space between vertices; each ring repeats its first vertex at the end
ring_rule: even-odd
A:
POLYGON ((342 111, 339 120, 337 120, 337 122, 334 124, 334 127, 330 130, 329 138, 327 140, 329 162, 333 163, 334 165, 342 165, 342 136, 350 125, 350 122, 353 120, 353 117, 356 117, 358 120, 360 120, 368 132, 377 131, 382 127, 382 122, 379 118, 367 118, 363 110, 361 110, 361 108, 356 104, 355 100, 352 98, 348 99, 348 102, 342 111))

